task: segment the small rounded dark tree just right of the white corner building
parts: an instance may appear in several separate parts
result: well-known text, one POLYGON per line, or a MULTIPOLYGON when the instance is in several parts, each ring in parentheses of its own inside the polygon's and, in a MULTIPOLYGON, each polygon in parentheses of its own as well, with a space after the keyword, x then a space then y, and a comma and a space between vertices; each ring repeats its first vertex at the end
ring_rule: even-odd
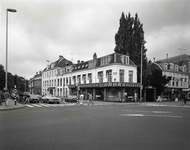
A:
POLYGON ((162 75, 162 70, 155 69, 152 71, 151 75, 147 76, 149 86, 156 88, 156 95, 161 95, 164 89, 167 88, 166 84, 171 80, 169 77, 162 75))

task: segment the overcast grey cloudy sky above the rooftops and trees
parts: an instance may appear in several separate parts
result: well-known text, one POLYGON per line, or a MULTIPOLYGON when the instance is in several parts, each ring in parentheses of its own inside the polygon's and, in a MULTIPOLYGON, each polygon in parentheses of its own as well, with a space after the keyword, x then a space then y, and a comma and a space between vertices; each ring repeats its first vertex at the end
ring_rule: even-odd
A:
POLYGON ((114 52, 121 13, 138 13, 148 60, 190 55, 190 0, 1 0, 0 64, 27 79, 63 55, 77 62, 114 52), (182 51, 179 50, 184 49, 182 51))

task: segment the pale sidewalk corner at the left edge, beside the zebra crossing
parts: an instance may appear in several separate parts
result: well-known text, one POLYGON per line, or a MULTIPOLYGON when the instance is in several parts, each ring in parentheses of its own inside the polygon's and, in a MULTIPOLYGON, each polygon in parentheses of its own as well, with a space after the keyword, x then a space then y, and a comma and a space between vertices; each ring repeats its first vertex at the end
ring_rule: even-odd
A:
POLYGON ((20 103, 16 103, 15 105, 15 101, 13 99, 8 99, 8 106, 5 105, 5 103, 3 103, 2 105, 0 105, 0 111, 2 110, 11 110, 11 109, 19 109, 19 108, 24 108, 25 105, 20 104, 20 103))

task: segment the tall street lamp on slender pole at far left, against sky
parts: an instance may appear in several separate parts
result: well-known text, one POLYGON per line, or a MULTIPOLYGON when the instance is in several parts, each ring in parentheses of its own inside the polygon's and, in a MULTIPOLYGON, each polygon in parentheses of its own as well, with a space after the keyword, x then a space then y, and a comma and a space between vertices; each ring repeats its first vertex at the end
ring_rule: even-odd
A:
POLYGON ((6 71, 5 71, 5 90, 8 89, 7 87, 7 71, 8 71, 8 12, 17 12, 16 9, 8 8, 6 10, 6 71))

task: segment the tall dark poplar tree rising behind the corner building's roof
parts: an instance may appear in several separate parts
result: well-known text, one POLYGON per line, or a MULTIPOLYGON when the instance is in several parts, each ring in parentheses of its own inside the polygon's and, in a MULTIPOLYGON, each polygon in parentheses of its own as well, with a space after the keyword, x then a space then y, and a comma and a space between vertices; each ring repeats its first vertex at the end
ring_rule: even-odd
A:
MULTIPOLYGON (((137 65, 138 81, 140 81, 141 67, 141 46, 143 54, 143 70, 146 70, 147 58, 144 40, 143 24, 138 18, 131 17, 131 14, 125 16, 122 12, 118 32, 115 34, 115 49, 116 53, 129 55, 130 59, 137 65)), ((146 74, 143 72, 143 77, 146 74)))

